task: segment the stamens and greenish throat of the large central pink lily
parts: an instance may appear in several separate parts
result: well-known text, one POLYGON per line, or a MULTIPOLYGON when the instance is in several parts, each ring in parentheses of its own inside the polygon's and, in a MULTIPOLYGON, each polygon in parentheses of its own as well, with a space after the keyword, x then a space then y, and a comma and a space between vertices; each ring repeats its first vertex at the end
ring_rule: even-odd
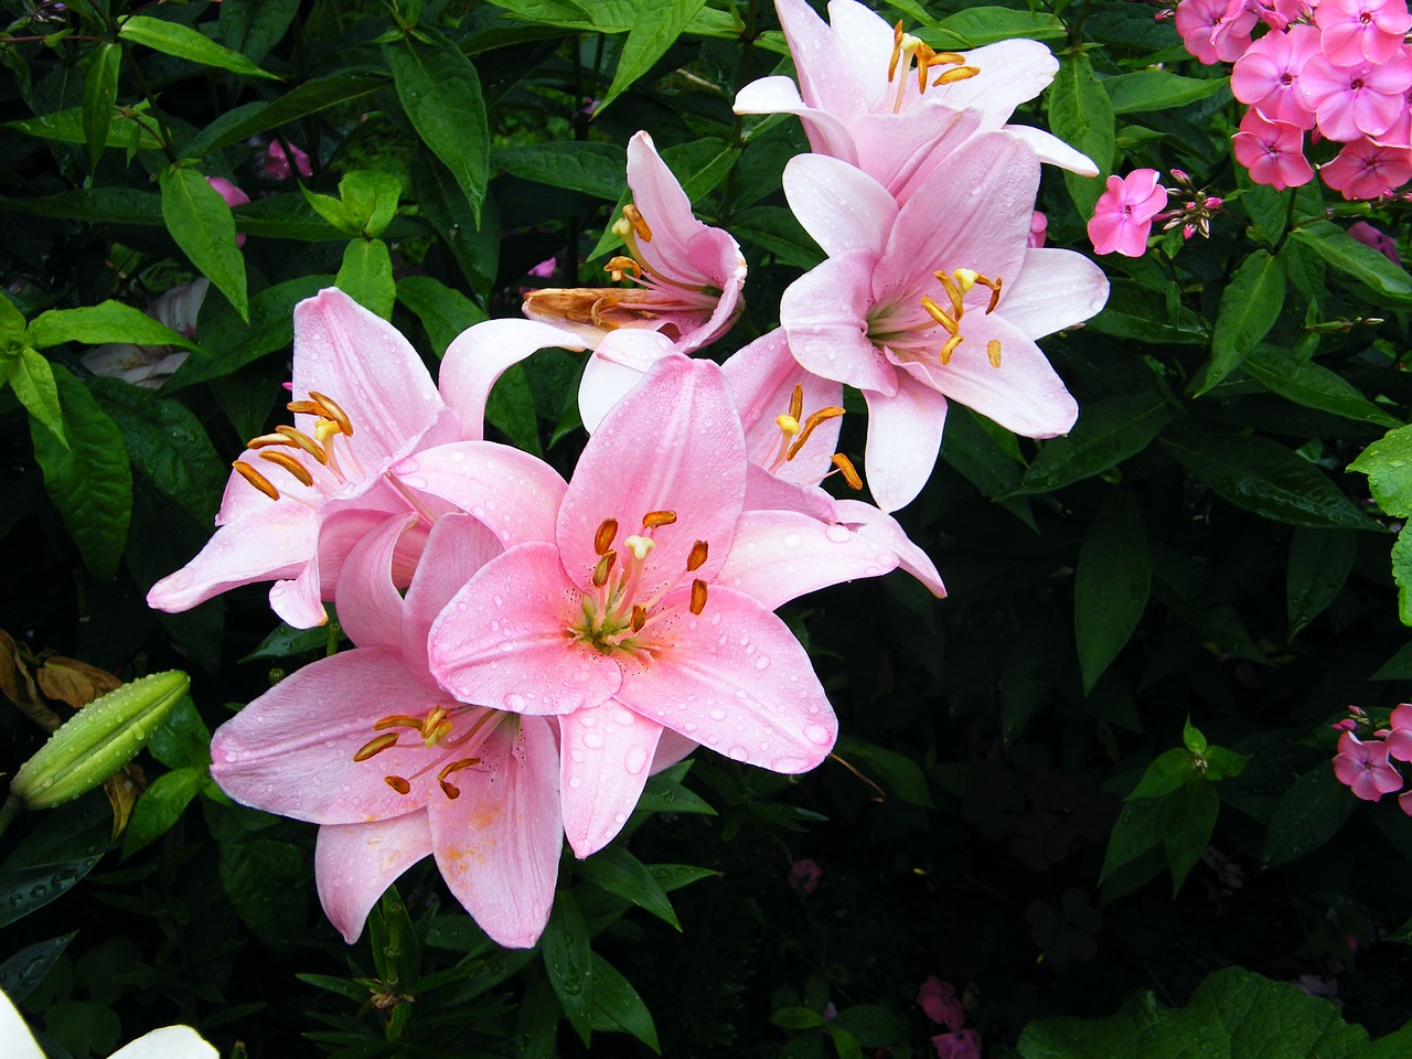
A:
MULTIPOLYGON (((706 541, 696 541, 686 556, 686 569, 666 585, 648 590, 644 572, 648 556, 657 548, 657 531, 676 524, 675 511, 648 511, 642 515, 642 532, 628 534, 617 542, 618 522, 604 518, 593 535, 593 552, 599 556, 587 592, 583 593, 582 617, 572 623, 565 635, 576 644, 587 644, 603 655, 630 654, 651 657, 664 647, 659 637, 664 620, 679 610, 678 606, 659 607, 666 596, 706 562, 706 541), (621 559, 620 559, 621 556, 621 559)), ((692 580, 688 609, 700 614, 706 607, 706 582, 692 580)))

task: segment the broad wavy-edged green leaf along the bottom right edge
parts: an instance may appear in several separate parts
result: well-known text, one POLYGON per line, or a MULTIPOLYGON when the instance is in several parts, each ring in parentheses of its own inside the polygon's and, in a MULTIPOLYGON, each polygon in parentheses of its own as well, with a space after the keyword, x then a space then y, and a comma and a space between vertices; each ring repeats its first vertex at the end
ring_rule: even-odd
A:
POLYGON ((1241 967, 1209 976, 1185 1008, 1163 1008, 1139 993, 1108 1018, 1042 1018, 1019 1036, 1021 1059, 1392 1059, 1367 1046, 1361 1027, 1346 1025, 1327 1000, 1241 967))

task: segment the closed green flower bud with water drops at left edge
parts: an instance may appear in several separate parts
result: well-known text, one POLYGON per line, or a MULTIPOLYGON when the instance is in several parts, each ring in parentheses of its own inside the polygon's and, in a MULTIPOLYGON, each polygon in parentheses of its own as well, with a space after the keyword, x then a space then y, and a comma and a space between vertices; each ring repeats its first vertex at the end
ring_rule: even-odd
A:
POLYGON ((11 796, 25 809, 52 809, 93 789, 133 760, 189 686, 169 669, 95 699, 20 767, 11 796))

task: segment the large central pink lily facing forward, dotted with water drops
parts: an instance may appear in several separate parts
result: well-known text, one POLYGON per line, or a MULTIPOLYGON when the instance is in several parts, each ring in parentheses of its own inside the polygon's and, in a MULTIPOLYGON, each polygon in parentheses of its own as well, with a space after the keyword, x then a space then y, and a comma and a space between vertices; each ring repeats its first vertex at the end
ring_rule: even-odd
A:
MULTIPOLYGON (((505 453, 445 445, 397 473, 498 515, 521 494, 507 489, 518 466, 497 473, 505 453)), ((853 534, 833 541, 819 522, 788 541, 743 518, 746 469, 720 369, 661 360, 599 425, 558 496, 487 520, 507 551, 432 626, 431 671, 448 692, 559 719, 563 825, 579 857, 621 829, 664 731, 777 772, 813 768, 833 746, 823 688, 771 609, 819 587, 819 568, 836 583, 895 561, 853 534), (779 559, 757 565, 755 552, 779 559)))

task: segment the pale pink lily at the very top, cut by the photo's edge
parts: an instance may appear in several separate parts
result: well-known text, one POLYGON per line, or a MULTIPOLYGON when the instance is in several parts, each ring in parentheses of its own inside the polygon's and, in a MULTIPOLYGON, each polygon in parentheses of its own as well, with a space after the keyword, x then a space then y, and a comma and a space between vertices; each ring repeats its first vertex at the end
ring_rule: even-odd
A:
POLYGON ((1087 155, 1058 137, 1005 124, 1059 69, 1038 41, 936 52, 856 0, 830 0, 829 23, 805 0, 775 0, 775 10, 799 83, 755 80, 736 96, 736 113, 796 114, 816 154, 863 169, 899 202, 971 136, 1001 127, 1042 161, 1097 175, 1087 155))

